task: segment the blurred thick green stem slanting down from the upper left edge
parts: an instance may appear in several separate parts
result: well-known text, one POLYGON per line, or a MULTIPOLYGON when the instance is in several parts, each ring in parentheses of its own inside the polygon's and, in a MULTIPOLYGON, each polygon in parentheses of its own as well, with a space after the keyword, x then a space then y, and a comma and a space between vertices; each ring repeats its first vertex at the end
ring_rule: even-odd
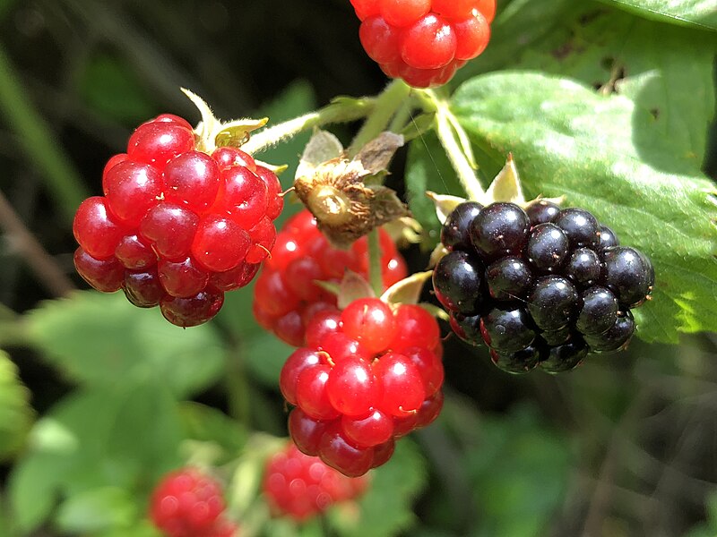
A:
POLYGON ((0 46, 0 113, 19 134, 28 161, 39 168, 50 195, 70 222, 82 200, 88 197, 80 175, 59 149, 49 125, 27 97, 27 91, 0 46))

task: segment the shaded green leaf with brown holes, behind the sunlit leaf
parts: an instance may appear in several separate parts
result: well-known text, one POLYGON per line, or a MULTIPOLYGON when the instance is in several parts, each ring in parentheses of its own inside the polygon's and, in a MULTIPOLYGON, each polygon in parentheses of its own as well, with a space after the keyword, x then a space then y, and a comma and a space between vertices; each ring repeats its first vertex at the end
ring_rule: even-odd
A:
POLYGON ((691 30, 581 3, 540 47, 526 50, 518 65, 632 99, 653 116, 652 131, 669 136, 674 146, 674 158, 643 157, 665 171, 695 171, 703 164, 714 114, 716 50, 712 35, 697 41, 691 30))

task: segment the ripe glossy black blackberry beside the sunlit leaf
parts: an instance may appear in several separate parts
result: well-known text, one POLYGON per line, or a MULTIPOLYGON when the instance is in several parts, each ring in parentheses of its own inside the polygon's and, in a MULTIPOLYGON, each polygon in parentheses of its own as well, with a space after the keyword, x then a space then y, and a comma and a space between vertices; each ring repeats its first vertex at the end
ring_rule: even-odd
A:
POLYGON ((567 371, 589 353, 618 351, 635 331, 631 308, 649 297, 652 264, 583 209, 539 200, 482 207, 468 201, 448 216, 449 251, 433 274, 454 332, 491 349, 496 365, 567 371))

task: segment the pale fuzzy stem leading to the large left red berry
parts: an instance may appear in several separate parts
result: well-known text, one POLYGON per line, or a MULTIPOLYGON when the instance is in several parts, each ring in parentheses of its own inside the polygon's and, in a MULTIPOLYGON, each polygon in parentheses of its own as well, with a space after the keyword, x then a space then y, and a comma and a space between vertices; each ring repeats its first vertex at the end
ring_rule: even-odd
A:
POLYGON ((268 129, 257 132, 241 146, 249 154, 259 153, 293 138, 300 132, 325 124, 347 123, 371 114, 376 104, 375 98, 340 98, 332 104, 315 112, 300 115, 268 129))

